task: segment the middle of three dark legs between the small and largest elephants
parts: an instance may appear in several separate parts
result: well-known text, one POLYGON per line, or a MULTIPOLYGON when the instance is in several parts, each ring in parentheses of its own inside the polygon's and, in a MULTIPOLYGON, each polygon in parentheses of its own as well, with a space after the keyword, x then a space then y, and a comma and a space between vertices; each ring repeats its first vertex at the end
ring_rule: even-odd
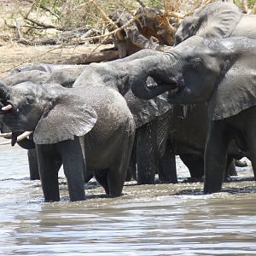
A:
POLYGON ((166 151, 160 159, 159 179, 161 183, 177 183, 177 169, 175 154, 167 144, 166 151))

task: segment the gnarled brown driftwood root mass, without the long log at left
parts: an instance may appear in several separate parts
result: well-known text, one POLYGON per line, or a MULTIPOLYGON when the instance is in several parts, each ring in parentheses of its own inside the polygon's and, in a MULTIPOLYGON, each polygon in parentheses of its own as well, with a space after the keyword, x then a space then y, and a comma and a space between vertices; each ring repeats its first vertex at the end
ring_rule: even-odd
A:
MULTIPOLYGON (((165 45, 174 44, 175 29, 168 18, 159 9, 143 7, 137 11, 140 18, 122 31, 124 40, 114 38, 114 44, 119 50, 120 58, 131 55, 140 49, 161 50, 165 45), (158 40, 155 43, 151 38, 158 40)), ((120 27, 131 20, 127 12, 115 11, 110 18, 120 27)))

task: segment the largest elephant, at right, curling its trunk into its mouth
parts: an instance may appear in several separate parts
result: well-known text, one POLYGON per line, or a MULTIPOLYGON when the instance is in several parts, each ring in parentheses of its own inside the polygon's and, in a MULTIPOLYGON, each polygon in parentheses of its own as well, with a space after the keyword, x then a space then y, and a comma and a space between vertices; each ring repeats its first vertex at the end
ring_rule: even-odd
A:
MULTIPOLYGON (((143 62, 143 60, 141 60, 143 62)), ((192 37, 171 52, 151 58, 148 73, 161 75, 161 82, 175 90, 175 104, 208 103, 209 130, 205 152, 205 193, 221 190, 230 141, 252 161, 256 176, 256 40, 249 38, 192 37)), ((159 77, 159 76, 158 76, 159 77)), ((134 80, 137 96, 156 96, 145 80, 134 80)), ((166 89, 163 88, 163 91, 166 89)))

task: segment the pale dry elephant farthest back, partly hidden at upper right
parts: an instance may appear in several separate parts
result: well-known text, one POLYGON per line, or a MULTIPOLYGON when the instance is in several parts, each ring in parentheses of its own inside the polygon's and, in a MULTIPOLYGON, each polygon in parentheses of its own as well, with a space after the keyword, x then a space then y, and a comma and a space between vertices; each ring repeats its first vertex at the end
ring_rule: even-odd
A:
POLYGON ((183 19, 175 33, 176 45, 194 35, 202 38, 256 38, 256 15, 242 14, 234 3, 210 3, 183 19))

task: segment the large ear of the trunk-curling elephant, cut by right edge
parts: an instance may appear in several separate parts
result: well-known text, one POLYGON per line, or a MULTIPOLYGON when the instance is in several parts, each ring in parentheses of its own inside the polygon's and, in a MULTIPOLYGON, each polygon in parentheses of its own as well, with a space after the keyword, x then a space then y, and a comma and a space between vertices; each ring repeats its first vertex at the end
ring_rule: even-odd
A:
POLYGON ((208 112, 212 120, 225 119, 255 105, 256 61, 252 56, 251 60, 236 62, 224 74, 213 91, 208 112))

